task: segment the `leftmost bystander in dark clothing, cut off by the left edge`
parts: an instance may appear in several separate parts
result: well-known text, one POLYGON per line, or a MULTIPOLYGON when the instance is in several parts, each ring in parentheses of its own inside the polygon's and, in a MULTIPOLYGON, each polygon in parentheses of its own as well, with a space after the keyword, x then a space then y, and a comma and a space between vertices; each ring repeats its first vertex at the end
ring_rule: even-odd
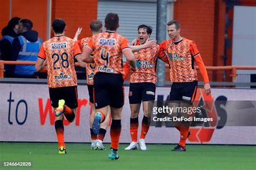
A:
MULTIPOLYGON (((19 34, 19 20, 21 20, 19 17, 11 18, 8 25, 2 30, 3 38, 0 40, 0 60, 14 60, 12 54, 12 41, 19 34)), ((15 65, 5 65, 4 69, 4 77, 12 77, 15 65)))

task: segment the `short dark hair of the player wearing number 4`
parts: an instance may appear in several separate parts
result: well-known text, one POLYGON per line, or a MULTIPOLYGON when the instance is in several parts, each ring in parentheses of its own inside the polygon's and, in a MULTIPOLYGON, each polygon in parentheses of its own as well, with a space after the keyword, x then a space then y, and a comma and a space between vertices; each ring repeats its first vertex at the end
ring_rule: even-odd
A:
POLYGON ((119 17, 117 13, 107 13, 105 17, 105 27, 107 30, 117 30, 119 17))

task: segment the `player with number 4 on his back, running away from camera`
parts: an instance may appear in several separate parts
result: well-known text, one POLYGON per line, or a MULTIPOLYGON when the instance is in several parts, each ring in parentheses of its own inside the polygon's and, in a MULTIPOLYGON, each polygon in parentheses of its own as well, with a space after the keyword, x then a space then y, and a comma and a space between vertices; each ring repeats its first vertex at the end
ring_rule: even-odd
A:
MULTIPOLYGON (((111 150, 109 159, 119 158, 118 146, 121 133, 121 112, 124 105, 123 91, 123 61, 122 53, 133 70, 135 56, 129 46, 129 41, 116 33, 119 27, 117 13, 108 13, 105 17, 106 32, 92 36, 84 48, 82 61, 95 62, 94 97, 96 115, 93 121, 93 133, 98 134, 100 123, 105 121, 109 106, 111 109, 112 123, 110 128, 111 150), (94 52, 93 57, 90 54, 94 52)), ((77 58, 80 58, 79 56, 77 58)), ((79 61, 79 59, 77 59, 79 61)))

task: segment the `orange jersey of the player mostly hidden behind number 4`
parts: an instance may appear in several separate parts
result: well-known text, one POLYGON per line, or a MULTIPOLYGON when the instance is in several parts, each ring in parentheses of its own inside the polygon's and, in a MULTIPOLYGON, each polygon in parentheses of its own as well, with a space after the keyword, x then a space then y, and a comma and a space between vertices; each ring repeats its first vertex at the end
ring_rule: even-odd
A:
MULTIPOLYGON (((88 45, 89 40, 90 40, 90 37, 86 37, 77 41, 80 47, 80 50, 82 52, 84 50, 84 47, 88 45)), ((91 55, 93 56, 93 53, 91 55)), ((87 84, 93 85, 95 68, 96 68, 95 63, 86 63, 86 83, 87 84)))

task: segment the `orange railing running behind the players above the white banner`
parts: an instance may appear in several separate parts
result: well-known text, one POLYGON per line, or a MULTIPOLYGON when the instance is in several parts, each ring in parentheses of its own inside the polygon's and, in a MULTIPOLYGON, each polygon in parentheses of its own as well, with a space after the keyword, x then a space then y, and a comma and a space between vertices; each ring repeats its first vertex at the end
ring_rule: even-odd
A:
MULTIPOLYGON (((0 60, 0 78, 4 77, 4 65, 35 65, 33 61, 3 61, 0 60)), ((79 64, 76 63, 77 68, 79 64)), ((41 73, 44 76, 38 76, 39 78, 46 78, 45 72, 47 68, 41 73)), ((198 70, 198 67, 196 67, 198 70)), ((256 66, 206 66, 208 76, 212 87, 228 87, 228 88, 256 88, 256 82, 251 82, 251 74, 238 74, 237 70, 254 70, 256 73, 256 66)), ((172 83, 169 76, 169 66, 165 66, 165 86, 170 86, 172 83)), ((85 72, 82 69, 77 69, 79 77, 85 79, 85 72)), ((125 84, 129 83, 130 74, 125 79, 125 84)), ((199 86, 202 86, 203 79, 198 70, 199 86)))

